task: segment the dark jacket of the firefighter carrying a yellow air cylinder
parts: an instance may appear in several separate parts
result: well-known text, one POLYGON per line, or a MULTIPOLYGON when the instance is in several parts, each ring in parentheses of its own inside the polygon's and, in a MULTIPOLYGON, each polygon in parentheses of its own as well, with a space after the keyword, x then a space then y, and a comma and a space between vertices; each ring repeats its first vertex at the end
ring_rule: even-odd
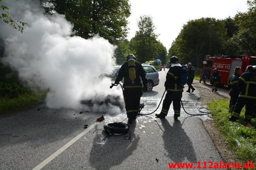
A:
POLYGON ((142 65, 139 62, 135 61, 135 66, 133 68, 135 68, 136 77, 134 81, 130 79, 129 68, 130 68, 129 61, 127 61, 120 68, 120 71, 116 78, 116 82, 118 83, 124 78, 123 88, 141 88, 142 87, 141 80, 140 80, 140 77, 141 77, 143 85, 147 86, 148 80, 146 78, 146 72, 143 69, 142 65))

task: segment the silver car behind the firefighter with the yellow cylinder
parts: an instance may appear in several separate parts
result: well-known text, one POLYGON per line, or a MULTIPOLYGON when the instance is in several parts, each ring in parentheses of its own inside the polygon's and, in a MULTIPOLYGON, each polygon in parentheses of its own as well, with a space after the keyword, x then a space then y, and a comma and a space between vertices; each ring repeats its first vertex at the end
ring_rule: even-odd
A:
MULTIPOLYGON (((143 64, 142 67, 145 70, 145 72, 147 73, 146 77, 148 79, 148 91, 151 91, 153 89, 153 87, 155 87, 155 86, 157 86, 159 84, 158 72, 155 69, 155 67, 149 66, 147 64, 143 64)), ((111 77, 112 79, 115 79, 117 77, 117 74, 118 74, 120 68, 121 68, 121 66, 120 67, 116 67, 116 70, 114 70, 114 72, 111 73, 108 77, 111 77)), ((123 81, 124 80, 122 80, 122 82, 123 81)), ((141 80, 141 84, 143 84, 142 80, 141 80)))

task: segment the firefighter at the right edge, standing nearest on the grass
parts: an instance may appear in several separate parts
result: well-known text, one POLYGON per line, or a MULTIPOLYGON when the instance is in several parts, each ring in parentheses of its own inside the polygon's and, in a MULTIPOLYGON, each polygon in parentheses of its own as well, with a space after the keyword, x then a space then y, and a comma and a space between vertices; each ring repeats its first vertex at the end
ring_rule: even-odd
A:
POLYGON ((247 72, 242 73, 239 77, 237 86, 240 93, 229 120, 237 121, 242 108, 245 106, 245 121, 250 122, 256 102, 256 67, 254 69, 253 66, 247 66, 247 72))

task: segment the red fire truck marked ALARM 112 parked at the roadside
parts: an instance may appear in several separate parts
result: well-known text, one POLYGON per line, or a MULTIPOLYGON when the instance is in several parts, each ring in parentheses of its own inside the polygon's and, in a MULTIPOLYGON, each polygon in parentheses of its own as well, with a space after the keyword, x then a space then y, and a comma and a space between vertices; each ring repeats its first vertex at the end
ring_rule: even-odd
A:
POLYGON ((248 56, 204 56, 203 69, 201 74, 201 79, 210 80, 211 74, 215 68, 218 69, 218 72, 221 74, 221 84, 228 84, 228 79, 234 73, 236 67, 241 67, 241 70, 245 72, 245 69, 248 65, 256 65, 256 57, 248 56))

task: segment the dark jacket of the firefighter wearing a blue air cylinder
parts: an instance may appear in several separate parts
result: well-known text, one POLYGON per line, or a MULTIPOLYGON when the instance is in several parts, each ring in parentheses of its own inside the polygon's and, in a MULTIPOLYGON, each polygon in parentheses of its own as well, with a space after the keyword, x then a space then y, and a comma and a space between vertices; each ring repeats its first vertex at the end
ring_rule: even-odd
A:
POLYGON ((166 74, 165 88, 168 91, 183 91, 180 77, 180 66, 170 67, 166 74))

